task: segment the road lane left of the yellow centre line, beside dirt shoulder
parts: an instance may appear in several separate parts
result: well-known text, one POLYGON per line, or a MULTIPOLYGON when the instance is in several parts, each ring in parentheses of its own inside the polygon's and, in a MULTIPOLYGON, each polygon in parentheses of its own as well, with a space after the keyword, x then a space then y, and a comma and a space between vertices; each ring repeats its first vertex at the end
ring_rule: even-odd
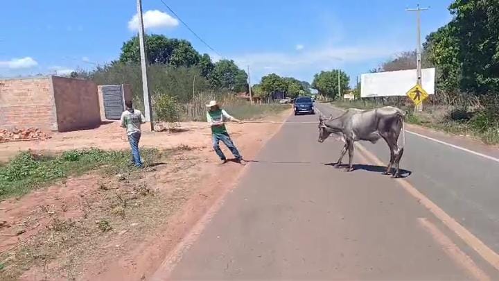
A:
MULTIPOLYGON (((289 119, 313 120, 317 116, 289 119)), ((238 188, 170 279, 499 278, 396 181, 380 175, 379 167, 357 165, 344 173, 328 165, 341 147, 333 139, 317 143, 316 125, 285 124, 245 168, 238 188)), ((367 160, 357 153, 355 161, 367 160)), ((414 170, 414 180, 423 177, 417 175, 426 169, 411 161, 404 164, 414 170)))

